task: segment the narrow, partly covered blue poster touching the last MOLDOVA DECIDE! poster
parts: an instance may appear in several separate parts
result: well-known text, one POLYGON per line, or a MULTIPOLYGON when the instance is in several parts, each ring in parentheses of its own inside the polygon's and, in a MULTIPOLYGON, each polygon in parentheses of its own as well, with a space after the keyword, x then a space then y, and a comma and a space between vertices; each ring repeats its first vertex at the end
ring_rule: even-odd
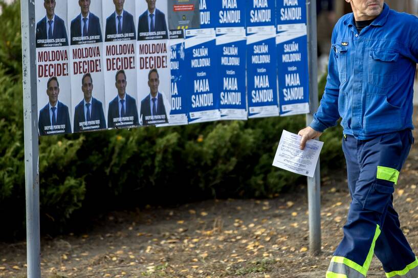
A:
POLYGON ((186 71, 181 71, 181 68, 185 66, 187 65, 185 64, 184 39, 170 39, 171 112, 168 115, 169 124, 159 126, 188 124, 186 94, 188 74, 186 71))

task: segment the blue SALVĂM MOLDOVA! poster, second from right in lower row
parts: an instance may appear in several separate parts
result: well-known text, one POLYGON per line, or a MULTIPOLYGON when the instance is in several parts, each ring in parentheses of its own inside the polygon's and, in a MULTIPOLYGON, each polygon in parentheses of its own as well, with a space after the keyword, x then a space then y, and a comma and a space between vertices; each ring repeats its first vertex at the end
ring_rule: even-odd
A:
POLYGON ((276 29, 248 27, 247 35, 248 118, 278 116, 276 29))

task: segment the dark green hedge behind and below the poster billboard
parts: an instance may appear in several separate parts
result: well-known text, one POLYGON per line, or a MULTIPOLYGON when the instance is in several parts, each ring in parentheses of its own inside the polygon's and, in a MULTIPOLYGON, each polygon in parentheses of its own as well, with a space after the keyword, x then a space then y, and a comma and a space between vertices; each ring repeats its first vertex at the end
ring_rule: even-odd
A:
MULTIPOLYGON (((0 0, 0 238, 25 233, 20 5, 0 0)), ((319 85, 323 91, 324 79, 319 85)), ((283 129, 304 116, 136 128, 39 139, 43 233, 76 230, 109 210, 207 198, 273 197, 305 178, 272 167, 283 129)), ((341 128, 324 133, 322 173, 342 165, 341 128)))

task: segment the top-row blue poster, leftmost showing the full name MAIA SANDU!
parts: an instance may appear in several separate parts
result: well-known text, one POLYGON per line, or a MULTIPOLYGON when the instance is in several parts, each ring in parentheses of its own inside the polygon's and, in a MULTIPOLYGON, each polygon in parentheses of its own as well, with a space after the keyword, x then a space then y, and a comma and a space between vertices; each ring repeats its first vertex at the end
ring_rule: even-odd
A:
POLYGON ((245 27, 246 2, 243 0, 217 0, 215 27, 245 27))

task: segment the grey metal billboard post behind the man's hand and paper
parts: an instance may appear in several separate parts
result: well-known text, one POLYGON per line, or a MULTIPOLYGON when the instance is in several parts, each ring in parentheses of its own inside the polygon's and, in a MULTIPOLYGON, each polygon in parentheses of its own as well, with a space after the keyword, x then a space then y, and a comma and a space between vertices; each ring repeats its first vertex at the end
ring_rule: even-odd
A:
MULTIPOLYGON (((318 57, 316 1, 306 0, 307 53, 309 66, 309 91, 311 112, 306 114, 306 125, 311 124, 318 109, 318 57)), ((321 252, 321 173, 318 164, 313 178, 307 177, 307 198, 309 206, 309 247, 312 254, 321 252)))

